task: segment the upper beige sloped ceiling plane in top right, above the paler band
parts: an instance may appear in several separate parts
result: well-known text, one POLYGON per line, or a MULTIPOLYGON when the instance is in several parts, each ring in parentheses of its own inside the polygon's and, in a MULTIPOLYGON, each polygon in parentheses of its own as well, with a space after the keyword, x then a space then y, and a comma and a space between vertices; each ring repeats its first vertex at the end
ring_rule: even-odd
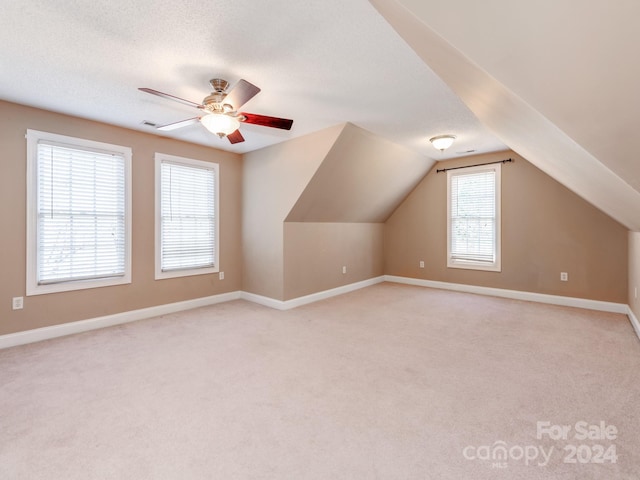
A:
POLYGON ((640 191, 638 0, 398 4, 640 191))

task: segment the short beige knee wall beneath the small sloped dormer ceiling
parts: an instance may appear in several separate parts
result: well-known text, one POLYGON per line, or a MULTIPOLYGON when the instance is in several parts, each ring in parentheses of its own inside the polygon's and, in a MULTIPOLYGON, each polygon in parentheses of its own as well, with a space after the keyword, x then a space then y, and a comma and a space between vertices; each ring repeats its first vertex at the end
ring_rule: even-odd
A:
POLYGON ((284 299, 383 275, 383 234, 382 223, 285 223, 284 299))

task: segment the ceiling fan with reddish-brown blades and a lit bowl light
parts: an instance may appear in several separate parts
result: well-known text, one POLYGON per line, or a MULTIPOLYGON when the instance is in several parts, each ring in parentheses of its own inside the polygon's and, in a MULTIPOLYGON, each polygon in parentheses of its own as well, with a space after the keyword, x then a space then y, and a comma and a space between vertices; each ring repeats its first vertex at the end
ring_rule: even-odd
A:
POLYGON ((280 128, 291 130, 293 120, 286 118, 269 117, 255 113, 238 112, 238 109, 256 96, 260 89, 247 82, 240 80, 231 90, 227 92, 229 82, 221 78, 209 80, 213 92, 204 97, 202 103, 192 102, 184 98, 159 92, 152 88, 139 88, 138 90, 158 97, 167 98, 184 105, 195 107, 201 111, 201 115, 179 122, 168 123, 156 126, 157 130, 175 130, 200 122, 211 133, 215 133, 220 138, 227 137, 231 143, 244 142, 244 137, 240 133, 240 123, 252 123, 264 127, 280 128))

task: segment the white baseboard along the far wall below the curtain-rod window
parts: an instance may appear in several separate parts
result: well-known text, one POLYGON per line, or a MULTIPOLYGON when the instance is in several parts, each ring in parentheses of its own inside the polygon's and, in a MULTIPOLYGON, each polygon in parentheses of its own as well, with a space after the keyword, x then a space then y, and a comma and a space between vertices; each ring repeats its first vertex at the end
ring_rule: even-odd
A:
POLYGON ((519 290, 506 290, 503 288, 479 287, 476 285, 464 285, 461 283, 437 282, 434 280, 424 280, 420 278, 385 275, 385 281, 404 283, 406 285, 418 285, 421 287, 439 288, 443 290, 454 290, 456 292, 476 293, 479 295, 489 295, 493 297, 511 298, 514 300, 562 305, 565 307, 599 310, 601 312, 627 313, 629 310, 629 307, 624 303, 603 302, 600 300, 589 300, 587 298, 563 297, 560 295, 548 295, 545 293, 521 292, 519 290))

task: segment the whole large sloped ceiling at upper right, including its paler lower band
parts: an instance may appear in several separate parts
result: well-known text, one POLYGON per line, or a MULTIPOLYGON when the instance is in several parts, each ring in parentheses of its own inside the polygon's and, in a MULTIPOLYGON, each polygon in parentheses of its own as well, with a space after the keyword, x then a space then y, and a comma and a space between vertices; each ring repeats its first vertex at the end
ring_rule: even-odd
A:
POLYGON ((640 2, 370 1, 503 142, 640 230, 640 2))

